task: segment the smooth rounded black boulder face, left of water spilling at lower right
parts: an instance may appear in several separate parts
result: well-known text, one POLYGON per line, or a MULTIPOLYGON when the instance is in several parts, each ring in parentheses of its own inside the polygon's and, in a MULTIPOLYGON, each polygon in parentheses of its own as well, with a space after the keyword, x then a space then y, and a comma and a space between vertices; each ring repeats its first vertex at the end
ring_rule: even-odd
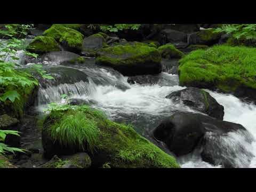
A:
POLYGON ((164 142, 177 156, 193 151, 204 134, 200 119, 186 113, 174 114, 154 130, 154 138, 164 142))

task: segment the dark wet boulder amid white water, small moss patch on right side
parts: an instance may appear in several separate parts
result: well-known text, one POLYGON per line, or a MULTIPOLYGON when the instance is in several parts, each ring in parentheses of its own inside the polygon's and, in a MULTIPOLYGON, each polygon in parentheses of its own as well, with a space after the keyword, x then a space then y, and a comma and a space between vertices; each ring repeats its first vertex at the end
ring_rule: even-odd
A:
POLYGON ((223 120, 224 107, 204 90, 196 87, 188 87, 180 91, 172 92, 165 98, 172 99, 174 101, 182 101, 189 107, 202 111, 211 117, 223 120))

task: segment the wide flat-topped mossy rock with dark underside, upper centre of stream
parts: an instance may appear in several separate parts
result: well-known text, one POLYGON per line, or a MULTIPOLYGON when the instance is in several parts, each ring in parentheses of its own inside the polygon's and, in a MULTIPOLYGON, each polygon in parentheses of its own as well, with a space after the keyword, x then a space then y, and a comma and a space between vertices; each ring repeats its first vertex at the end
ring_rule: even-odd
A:
POLYGON ((154 47, 119 45, 97 52, 96 65, 112 67, 125 76, 159 74, 161 55, 154 47))

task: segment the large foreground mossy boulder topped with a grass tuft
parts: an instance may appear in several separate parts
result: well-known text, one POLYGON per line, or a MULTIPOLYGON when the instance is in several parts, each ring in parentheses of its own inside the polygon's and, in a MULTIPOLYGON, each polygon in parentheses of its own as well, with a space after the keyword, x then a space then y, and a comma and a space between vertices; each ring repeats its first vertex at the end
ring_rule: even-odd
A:
POLYGON ((92 167, 179 167, 133 127, 114 123, 88 106, 51 111, 44 119, 42 141, 46 156, 85 151, 92 167))

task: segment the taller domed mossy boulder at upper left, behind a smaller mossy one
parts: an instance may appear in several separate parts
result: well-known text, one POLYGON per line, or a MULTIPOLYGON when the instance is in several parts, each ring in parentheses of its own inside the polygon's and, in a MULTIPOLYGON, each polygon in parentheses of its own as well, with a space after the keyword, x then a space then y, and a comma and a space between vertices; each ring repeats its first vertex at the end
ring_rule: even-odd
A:
POLYGON ((66 51, 75 53, 81 52, 84 35, 73 28, 69 28, 68 24, 64 26, 55 24, 50 29, 45 30, 43 35, 52 37, 60 42, 66 51))

